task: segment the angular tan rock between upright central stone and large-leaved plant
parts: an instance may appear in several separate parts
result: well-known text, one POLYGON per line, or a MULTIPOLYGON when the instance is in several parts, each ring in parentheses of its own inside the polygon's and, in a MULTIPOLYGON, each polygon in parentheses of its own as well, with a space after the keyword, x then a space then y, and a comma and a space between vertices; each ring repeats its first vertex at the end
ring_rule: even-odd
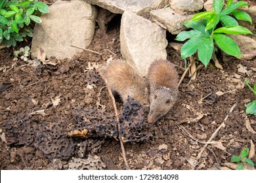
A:
POLYGON ((152 17, 158 20, 158 22, 165 25, 167 30, 174 35, 186 29, 183 22, 192 18, 192 15, 181 15, 171 8, 152 10, 150 14, 152 14, 152 17))

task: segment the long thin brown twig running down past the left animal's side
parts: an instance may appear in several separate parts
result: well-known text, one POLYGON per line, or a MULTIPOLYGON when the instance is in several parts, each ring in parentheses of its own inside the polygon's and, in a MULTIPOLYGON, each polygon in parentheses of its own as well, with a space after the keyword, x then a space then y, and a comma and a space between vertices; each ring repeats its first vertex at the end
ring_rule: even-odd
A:
MULTIPOLYGON (((116 115, 116 120, 117 120, 117 122, 119 122, 119 117, 118 117, 118 112, 117 112, 117 107, 116 107, 116 100, 115 100, 113 93, 111 92, 110 86, 108 85, 108 80, 106 78, 104 78, 104 75, 102 75, 102 73, 100 71, 98 71, 98 73, 100 74, 100 76, 103 78, 103 80, 106 83, 106 86, 108 88, 108 93, 110 95, 110 98, 112 99, 112 103, 113 103, 113 107, 114 107, 114 111, 115 111, 115 115, 116 115)), ((129 170, 130 168, 127 163, 127 159, 126 159, 126 155, 125 155, 125 147, 123 146, 123 140, 121 139, 121 130, 120 130, 121 127, 120 127, 119 123, 117 123, 117 129, 118 129, 118 133, 119 133, 118 136, 119 136, 119 141, 120 141, 120 145, 121 145, 123 161, 125 162, 126 169, 129 170)))

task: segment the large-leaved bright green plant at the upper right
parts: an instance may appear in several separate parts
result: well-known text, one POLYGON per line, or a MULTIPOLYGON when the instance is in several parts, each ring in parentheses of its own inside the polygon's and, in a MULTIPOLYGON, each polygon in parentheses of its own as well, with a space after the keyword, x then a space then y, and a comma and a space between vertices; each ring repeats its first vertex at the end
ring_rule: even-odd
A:
POLYGON ((224 7, 223 0, 214 0, 213 11, 200 12, 194 15, 189 22, 184 22, 190 31, 182 31, 177 35, 177 41, 185 41, 181 48, 182 59, 192 56, 198 51, 198 58, 207 67, 213 56, 214 47, 217 45, 221 50, 236 58, 241 58, 242 54, 238 45, 226 34, 253 34, 245 27, 239 26, 238 20, 245 20, 251 23, 249 14, 236 8, 249 6, 245 1, 232 3, 228 0, 224 7), (229 14, 232 14, 230 16, 229 14))

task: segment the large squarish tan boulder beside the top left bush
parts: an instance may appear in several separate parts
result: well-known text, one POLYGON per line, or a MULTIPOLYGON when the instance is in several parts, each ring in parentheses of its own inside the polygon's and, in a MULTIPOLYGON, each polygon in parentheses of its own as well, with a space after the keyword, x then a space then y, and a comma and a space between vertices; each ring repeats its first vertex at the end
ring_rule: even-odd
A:
POLYGON ((49 14, 41 16, 42 23, 35 24, 32 40, 32 58, 42 48, 47 58, 71 58, 87 48, 95 31, 95 8, 83 1, 57 1, 49 14))

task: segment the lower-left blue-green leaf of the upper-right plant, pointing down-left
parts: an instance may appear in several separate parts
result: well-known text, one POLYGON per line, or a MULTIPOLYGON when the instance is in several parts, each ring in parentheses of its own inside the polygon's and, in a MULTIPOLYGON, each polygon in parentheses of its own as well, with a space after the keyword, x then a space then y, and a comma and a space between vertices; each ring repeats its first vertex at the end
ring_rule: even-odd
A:
POLYGON ((201 37, 195 37, 188 40, 181 48, 181 58, 188 58, 198 50, 198 44, 202 41, 201 37))

